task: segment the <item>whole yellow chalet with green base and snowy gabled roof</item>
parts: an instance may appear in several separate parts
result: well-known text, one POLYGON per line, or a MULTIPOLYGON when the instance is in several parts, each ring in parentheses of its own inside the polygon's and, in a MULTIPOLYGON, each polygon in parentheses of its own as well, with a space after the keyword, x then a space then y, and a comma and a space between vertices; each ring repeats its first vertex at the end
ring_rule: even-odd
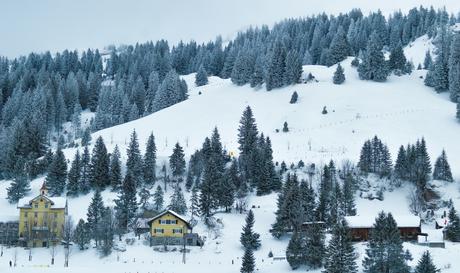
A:
POLYGON ((151 245, 200 245, 198 234, 192 233, 192 226, 172 210, 166 210, 147 220, 151 245))

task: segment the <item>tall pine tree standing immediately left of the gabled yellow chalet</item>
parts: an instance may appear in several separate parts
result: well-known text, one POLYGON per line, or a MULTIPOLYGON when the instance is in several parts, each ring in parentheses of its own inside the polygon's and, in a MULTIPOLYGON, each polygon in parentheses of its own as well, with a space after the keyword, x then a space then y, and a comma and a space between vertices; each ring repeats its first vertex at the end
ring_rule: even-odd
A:
POLYGON ((132 227, 136 218, 137 201, 135 183, 136 179, 132 177, 132 173, 127 172, 118 198, 115 200, 118 227, 122 231, 127 231, 128 228, 132 227))

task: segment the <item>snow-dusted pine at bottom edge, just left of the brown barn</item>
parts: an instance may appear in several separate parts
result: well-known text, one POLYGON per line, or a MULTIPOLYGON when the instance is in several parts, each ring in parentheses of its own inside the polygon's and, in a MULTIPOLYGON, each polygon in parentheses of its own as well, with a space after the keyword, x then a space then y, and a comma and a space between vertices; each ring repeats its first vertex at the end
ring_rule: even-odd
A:
POLYGON ((350 238, 346 221, 339 221, 332 230, 332 239, 326 250, 324 273, 356 273, 357 255, 350 238))

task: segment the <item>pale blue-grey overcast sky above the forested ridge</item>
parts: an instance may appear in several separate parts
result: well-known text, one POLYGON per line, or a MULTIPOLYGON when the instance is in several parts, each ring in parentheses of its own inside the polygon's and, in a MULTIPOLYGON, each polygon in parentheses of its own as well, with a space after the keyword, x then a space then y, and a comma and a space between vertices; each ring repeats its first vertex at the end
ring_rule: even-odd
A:
POLYGON ((460 11, 459 0, 0 0, 0 55, 158 39, 203 42, 287 17, 355 7, 388 14, 420 5, 460 11))

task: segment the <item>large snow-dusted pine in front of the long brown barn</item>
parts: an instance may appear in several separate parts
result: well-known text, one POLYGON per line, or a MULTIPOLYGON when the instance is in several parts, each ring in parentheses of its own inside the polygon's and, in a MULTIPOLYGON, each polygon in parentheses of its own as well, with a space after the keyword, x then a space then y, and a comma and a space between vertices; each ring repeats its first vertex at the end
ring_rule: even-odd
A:
POLYGON ((379 213, 371 230, 363 261, 365 273, 409 272, 400 236, 393 216, 379 213))

